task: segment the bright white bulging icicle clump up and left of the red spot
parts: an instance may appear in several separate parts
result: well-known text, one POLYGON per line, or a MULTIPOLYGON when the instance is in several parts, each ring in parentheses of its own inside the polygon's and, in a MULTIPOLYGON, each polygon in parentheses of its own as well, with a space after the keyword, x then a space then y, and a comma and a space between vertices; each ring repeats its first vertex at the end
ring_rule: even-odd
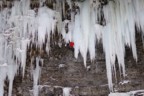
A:
POLYGON ((47 7, 39 8, 38 12, 38 46, 42 48, 42 44, 45 43, 45 37, 50 40, 51 31, 54 32, 54 26, 56 25, 56 20, 54 19, 54 11, 47 7))

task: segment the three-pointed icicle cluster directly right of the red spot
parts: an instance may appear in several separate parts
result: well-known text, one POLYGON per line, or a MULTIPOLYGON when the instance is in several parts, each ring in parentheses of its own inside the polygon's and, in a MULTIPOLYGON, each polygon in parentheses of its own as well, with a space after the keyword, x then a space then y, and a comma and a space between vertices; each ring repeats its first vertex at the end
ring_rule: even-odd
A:
POLYGON ((80 7, 80 13, 77 12, 75 20, 72 20, 71 22, 65 20, 63 22, 62 35, 66 43, 74 41, 75 58, 78 57, 78 53, 80 52, 86 67, 87 52, 90 52, 91 60, 95 58, 96 18, 94 17, 94 10, 91 11, 90 1, 78 3, 78 6, 80 7), (66 25, 68 25, 68 33, 66 33, 65 30, 66 25))

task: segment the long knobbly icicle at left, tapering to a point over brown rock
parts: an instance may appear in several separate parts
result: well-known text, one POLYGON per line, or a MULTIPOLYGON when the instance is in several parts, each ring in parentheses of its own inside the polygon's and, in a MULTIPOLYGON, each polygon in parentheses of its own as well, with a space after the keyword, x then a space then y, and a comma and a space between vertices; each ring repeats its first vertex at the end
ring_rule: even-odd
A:
POLYGON ((32 13, 29 13, 29 11, 30 11, 29 0, 22 0, 21 2, 15 1, 14 7, 12 8, 11 17, 9 19, 9 23, 11 24, 11 27, 14 29, 12 31, 14 34, 13 37, 15 42, 14 47, 17 49, 15 55, 17 56, 17 60, 21 61, 23 77, 24 77, 25 65, 26 65, 27 45, 29 43, 29 39, 28 39, 29 30, 27 29, 32 24, 30 22, 32 19, 32 13), (16 38, 21 40, 17 40, 16 38))

